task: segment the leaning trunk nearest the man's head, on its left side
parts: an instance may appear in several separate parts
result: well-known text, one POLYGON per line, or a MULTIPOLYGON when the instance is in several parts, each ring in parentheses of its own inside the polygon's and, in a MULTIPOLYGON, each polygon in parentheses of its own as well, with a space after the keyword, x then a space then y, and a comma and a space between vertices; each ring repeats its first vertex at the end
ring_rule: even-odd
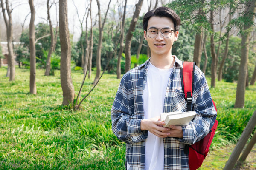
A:
POLYGON ((129 30, 125 38, 125 72, 131 69, 131 38, 132 38, 131 32, 133 32, 135 29, 142 3, 143 3, 143 0, 139 0, 139 2, 135 5, 136 8, 134 11, 134 15, 132 17, 129 30))

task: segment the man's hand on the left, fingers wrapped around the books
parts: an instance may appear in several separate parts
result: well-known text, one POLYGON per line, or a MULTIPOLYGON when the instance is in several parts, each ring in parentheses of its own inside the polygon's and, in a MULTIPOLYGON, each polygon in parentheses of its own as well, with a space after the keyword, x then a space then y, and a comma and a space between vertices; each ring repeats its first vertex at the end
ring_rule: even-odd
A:
POLYGON ((141 130, 148 130, 154 135, 164 138, 169 136, 171 133, 169 128, 163 127, 162 125, 165 125, 164 122, 159 120, 159 117, 154 117, 151 119, 143 119, 140 123, 140 129, 141 130))

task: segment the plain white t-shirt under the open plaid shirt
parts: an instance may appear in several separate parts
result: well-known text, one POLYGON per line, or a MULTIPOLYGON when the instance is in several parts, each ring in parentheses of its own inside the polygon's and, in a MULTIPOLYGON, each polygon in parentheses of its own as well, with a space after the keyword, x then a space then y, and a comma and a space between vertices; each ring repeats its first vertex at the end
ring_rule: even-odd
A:
MULTIPOLYGON (((159 69, 149 62, 147 82, 143 92, 145 119, 151 119, 163 113, 163 103, 171 72, 172 68, 159 69)), ((145 147, 145 170, 163 170, 163 161, 163 138, 148 131, 145 147)))

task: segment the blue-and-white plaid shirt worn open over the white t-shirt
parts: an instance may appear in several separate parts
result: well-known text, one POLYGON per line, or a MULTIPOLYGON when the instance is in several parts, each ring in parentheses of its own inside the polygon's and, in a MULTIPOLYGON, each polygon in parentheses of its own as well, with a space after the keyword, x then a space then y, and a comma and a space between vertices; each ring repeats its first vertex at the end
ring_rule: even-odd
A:
MULTIPOLYGON (((111 109, 112 130, 118 139, 126 143, 126 161, 131 166, 130 170, 145 169, 145 139, 148 131, 140 129, 140 122, 144 119, 142 96, 147 81, 148 64, 149 59, 122 77, 111 109)), ((186 111, 180 67, 183 67, 182 62, 175 56, 163 113, 186 111)), ((184 144, 194 144, 204 138, 215 122, 217 112, 204 74, 198 67, 195 67, 193 83, 192 103, 197 115, 189 125, 182 126, 183 138, 163 138, 164 170, 189 170, 184 144)))

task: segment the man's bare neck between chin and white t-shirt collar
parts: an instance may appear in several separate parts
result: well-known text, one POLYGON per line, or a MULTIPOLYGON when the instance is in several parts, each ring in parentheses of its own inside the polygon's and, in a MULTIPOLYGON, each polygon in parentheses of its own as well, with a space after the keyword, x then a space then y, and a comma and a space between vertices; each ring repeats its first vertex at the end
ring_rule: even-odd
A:
POLYGON ((151 56, 150 62, 157 68, 169 69, 174 65, 175 58, 172 55, 169 56, 151 56))

